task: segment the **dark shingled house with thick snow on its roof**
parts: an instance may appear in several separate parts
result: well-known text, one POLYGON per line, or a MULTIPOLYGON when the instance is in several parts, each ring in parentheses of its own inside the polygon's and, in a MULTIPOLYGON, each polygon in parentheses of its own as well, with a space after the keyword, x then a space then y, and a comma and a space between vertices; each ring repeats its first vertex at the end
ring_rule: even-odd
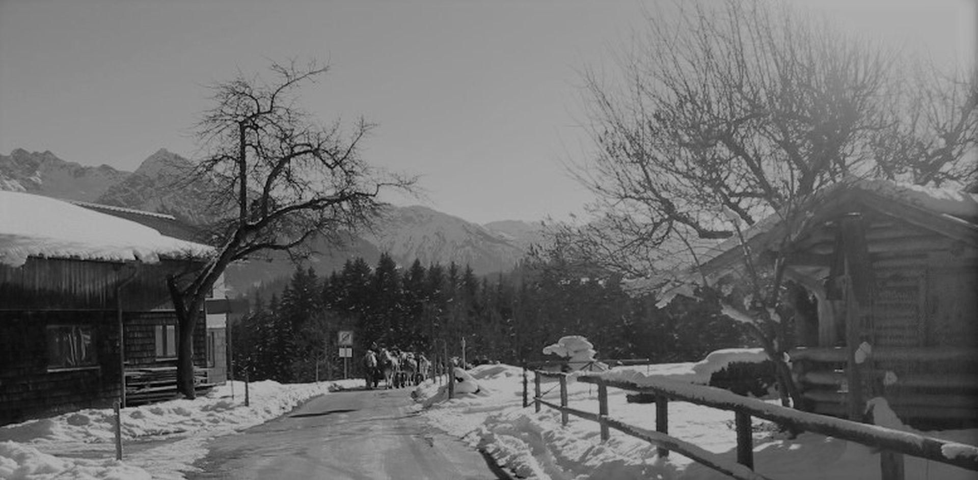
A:
MULTIPOLYGON (((66 201, 0 192, 0 424, 109 406, 127 372, 175 371, 165 277, 209 251, 66 201)), ((202 367, 202 315, 199 325, 202 367)))

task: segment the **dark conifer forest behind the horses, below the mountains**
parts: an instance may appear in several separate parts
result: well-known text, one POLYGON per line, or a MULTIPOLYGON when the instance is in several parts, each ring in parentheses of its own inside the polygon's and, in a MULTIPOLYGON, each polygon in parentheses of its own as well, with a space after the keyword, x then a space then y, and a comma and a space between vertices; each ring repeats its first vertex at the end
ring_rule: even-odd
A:
POLYGON ((325 275, 298 268, 281 293, 249 296, 250 313, 232 325, 232 360, 235 376, 251 380, 342 377, 338 330, 354 331, 351 376, 371 347, 519 365, 544 360, 542 348, 568 334, 588 337, 601 359, 655 363, 749 344, 716 302, 681 297, 659 309, 650 295, 627 294, 617 276, 582 277, 548 261, 476 276, 454 263, 403 268, 383 254, 376 265, 356 258, 325 275))

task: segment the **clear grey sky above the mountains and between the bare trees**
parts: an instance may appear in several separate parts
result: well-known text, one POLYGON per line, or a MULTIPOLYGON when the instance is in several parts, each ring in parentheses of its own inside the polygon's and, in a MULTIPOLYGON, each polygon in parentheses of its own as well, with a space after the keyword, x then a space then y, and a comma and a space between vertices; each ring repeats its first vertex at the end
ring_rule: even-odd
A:
MULTIPOLYGON (((792 0, 802 4, 802 0, 792 0)), ((819 0, 845 28, 969 62, 978 0, 819 0)), ((133 170, 192 156, 204 85, 318 59, 324 121, 378 122, 369 161, 422 175, 414 201, 469 221, 565 218, 590 196, 561 160, 589 149, 579 71, 654 0, 0 0, 0 153, 133 170)))

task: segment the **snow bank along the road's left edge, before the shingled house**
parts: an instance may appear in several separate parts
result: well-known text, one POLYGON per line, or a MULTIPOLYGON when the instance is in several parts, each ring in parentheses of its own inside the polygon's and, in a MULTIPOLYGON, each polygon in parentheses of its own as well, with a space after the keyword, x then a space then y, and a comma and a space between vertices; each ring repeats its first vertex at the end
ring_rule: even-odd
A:
MULTIPOLYGON (((349 388, 363 380, 333 382, 349 388)), ((0 427, 0 478, 180 479, 206 455, 203 443, 288 413, 330 382, 244 383, 215 388, 195 400, 173 400, 122 410, 123 460, 116 461, 114 414, 86 409, 0 427), (167 442, 159 442, 161 439, 167 442), (159 445, 156 445, 159 444, 159 445)))

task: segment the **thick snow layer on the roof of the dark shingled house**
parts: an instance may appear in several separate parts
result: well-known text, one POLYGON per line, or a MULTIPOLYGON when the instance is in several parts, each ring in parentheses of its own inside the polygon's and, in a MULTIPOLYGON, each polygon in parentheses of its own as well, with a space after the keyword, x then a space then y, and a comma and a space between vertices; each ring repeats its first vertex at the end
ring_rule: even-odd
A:
POLYGON ((19 267, 29 256, 155 263, 211 251, 57 198, 0 191, 0 264, 19 267))

